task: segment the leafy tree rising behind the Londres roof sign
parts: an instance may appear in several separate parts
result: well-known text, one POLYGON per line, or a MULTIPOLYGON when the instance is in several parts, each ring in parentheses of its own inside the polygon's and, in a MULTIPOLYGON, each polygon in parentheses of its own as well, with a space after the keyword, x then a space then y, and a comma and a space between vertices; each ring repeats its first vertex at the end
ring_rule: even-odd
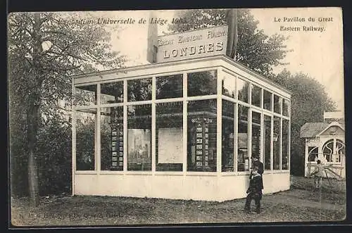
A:
MULTIPOLYGON (((263 30, 258 30, 258 21, 254 20, 249 9, 237 10, 237 54, 236 61, 243 63, 252 70, 263 75, 272 73, 272 65, 282 64, 286 56, 284 46, 286 37, 274 34, 268 36, 263 30)), ((203 27, 225 25, 226 10, 201 9, 180 11, 177 17, 184 18, 185 23, 169 25, 172 32, 184 32, 203 27)), ((182 21, 183 22, 183 21, 182 21)))

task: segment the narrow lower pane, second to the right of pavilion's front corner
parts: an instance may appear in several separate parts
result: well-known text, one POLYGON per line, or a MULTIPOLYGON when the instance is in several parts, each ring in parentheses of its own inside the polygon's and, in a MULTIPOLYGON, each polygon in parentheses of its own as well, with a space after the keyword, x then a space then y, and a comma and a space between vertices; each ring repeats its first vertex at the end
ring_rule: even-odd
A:
POLYGON ((237 171, 243 172, 249 170, 248 156, 248 111, 246 106, 239 105, 239 129, 237 139, 237 171))

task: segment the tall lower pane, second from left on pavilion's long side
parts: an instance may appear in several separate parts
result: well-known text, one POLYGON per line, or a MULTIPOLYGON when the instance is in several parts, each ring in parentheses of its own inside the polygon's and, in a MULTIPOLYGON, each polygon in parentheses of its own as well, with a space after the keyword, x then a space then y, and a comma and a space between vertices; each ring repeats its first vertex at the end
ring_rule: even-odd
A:
POLYGON ((123 107, 101 108, 101 170, 123 170, 123 107))

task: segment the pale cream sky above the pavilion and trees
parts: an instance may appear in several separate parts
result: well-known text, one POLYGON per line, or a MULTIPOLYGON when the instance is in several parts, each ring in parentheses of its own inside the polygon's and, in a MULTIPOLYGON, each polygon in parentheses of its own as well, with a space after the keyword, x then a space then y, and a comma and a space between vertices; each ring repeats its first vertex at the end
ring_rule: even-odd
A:
MULTIPOLYGON (((154 16, 168 20, 164 25, 158 24, 158 34, 168 33, 168 23, 176 11, 156 11, 154 16)), ((287 53, 280 65, 274 68, 279 73, 286 68, 291 73, 305 73, 324 85, 326 92, 337 103, 340 111, 344 110, 344 58, 342 12, 340 8, 256 8, 251 9, 258 28, 265 34, 283 34, 289 36, 284 43, 287 53), (315 18, 312 22, 309 18, 315 18), (279 20, 281 20, 279 22, 279 20), (304 22, 303 22, 304 20, 304 22), (294 30, 288 30, 294 27, 294 30), (299 27, 297 29, 297 27, 299 27), (322 31, 311 31, 311 27, 322 27, 322 31), (299 31, 298 31, 299 30, 299 31)), ((146 37, 150 20, 150 11, 114 11, 96 12, 105 19, 134 19, 136 23, 111 27, 112 49, 127 56, 127 66, 142 65, 146 61, 146 37), (140 19, 145 24, 139 24, 140 19)))

